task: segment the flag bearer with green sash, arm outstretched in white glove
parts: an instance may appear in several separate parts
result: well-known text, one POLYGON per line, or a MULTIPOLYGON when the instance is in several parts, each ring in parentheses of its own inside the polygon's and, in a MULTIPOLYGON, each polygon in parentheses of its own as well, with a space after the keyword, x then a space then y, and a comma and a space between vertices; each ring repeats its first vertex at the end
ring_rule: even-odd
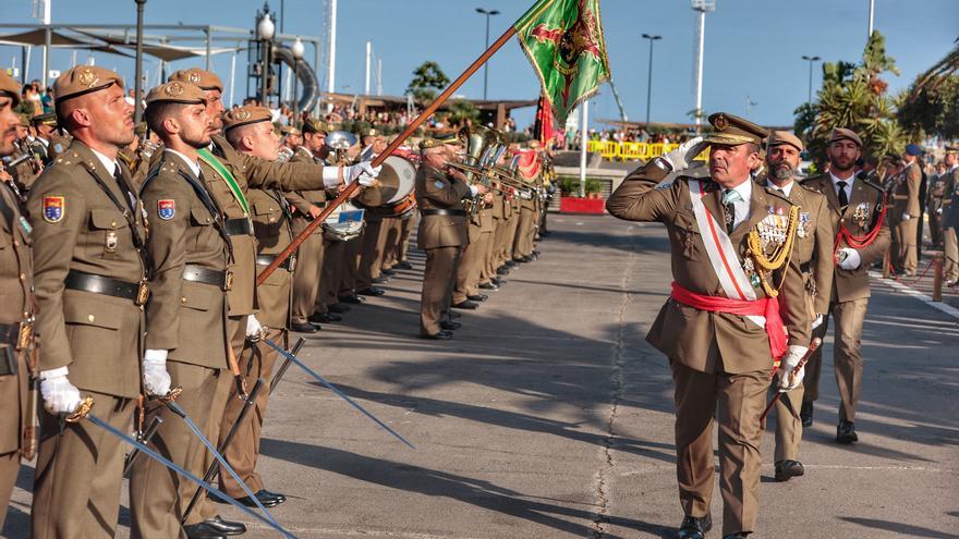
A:
MULTIPOLYGON (((219 205, 224 229, 233 246, 232 264, 229 267, 233 281, 230 290, 227 291, 229 306, 227 333, 230 338, 230 346, 239 356, 246 338, 257 336, 262 332, 262 326, 254 316, 256 238, 253 235, 246 189, 250 186, 282 191, 311 189, 335 187, 357 180, 362 184, 368 183, 366 177, 375 175, 378 171, 373 170, 368 163, 335 169, 313 163, 271 162, 239 154, 219 134, 222 130, 223 112, 221 100, 223 85, 220 78, 208 71, 191 69, 173 73, 170 82, 195 84, 203 89, 207 99, 207 113, 214 121, 213 143, 209 149, 198 149, 197 154, 207 191, 219 205), (361 177, 361 174, 364 177, 361 177)), ((210 406, 211 420, 206 429, 208 438, 216 439, 219 436, 227 400, 231 394, 235 399, 235 391, 232 377, 220 377, 210 406)), ((204 468, 213 462, 213 455, 205 454, 204 468)), ((182 490, 180 500, 184 504, 189 501, 189 497, 184 495, 182 490)), ((206 524, 221 532, 235 532, 240 528, 236 523, 218 518, 216 513, 214 504, 202 497, 185 524, 206 524)))

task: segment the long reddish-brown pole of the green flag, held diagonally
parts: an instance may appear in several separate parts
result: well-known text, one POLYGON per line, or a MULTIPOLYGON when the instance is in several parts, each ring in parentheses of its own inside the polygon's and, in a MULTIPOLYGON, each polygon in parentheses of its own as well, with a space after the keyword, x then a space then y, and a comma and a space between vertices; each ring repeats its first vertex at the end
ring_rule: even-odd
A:
MULTIPOLYGON (((534 4, 533 8, 531 8, 531 11, 536 10, 538 8, 542 8, 542 5, 543 5, 543 2, 536 2, 536 4, 534 4)), ((523 17, 525 17, 525 16, 526 15, 523 15, 523 17)), ((520 21, 522 21, 522 19, 520 19, 520 21)), ((453 81, 449 85, 449 87, 446 90, 444 90, 442 94, 439 95, 439 97, 437 97, 432 103, 429 103, 429 107, 427 107, 426 110, 424 110, 418 117, 416 117, 416 119, 413 120, 413 122, 406 126, 406 130, 403 131, 403 133, 400 134, 400 136, 394 138, 393 142, 390 143, 390 145, 387 146, 387 148, 385 150, 383 150, 383 152, 380 155, 376 156, 376 159, 373 160, 373 167, 376 168, 376 167, 379 167, 380 164, 383 164, 383 162, 386 161, 387 157, 389 157, 397 148, 399 148, 400 145, 402 145, 403 142, 405 142, 406 138, 409 138, 410 135, 413 134, 413 132, 415 132, 421 125, 423 125, 423 123, 426 122, 426 120, 429 119, 429 117, 433 115, 434 112, 436 112, 436 109, 438 109, 444 102, 446 102, 446 100, 449 99, 450 96, 453 95, 453 93, 456 93, 458 89, 460 89, 460 86, 462 86, 463 83, 465 83, 471 76, 473 76, 477 71, 480 71, 480 68, 482 68, 483 64, 486 63, 489 60, 489 58, 496 53, 496 51, 501 49, 502 46, 506 45, 506 42, 509 41, 510 38, 513 37, 515 34, 517 34, 515 25, 510 26, 509 29, 507 29, 502 34, 502 36, 500 36, 499 39, 496 40, 496 42, 490 45, 489 48, 486 49, 486 51, 483 52, 483 54, 481 54, 480 58, 476 59, 476 61, 474 61, 469 68, 466 68, 466 71, 464 71, 462 75, 460 75, 456 81, 453 81)), ((289 247, 287 247, 286 249, 283 249, 282 253, 277 255, 277 258, 272 262, 270 262, 269 266, 264 268, 263 271, 259 272, 259 275, 256 277, 256 284, 258 284, 258 285, 263 284, 267 279, 269 279, 269 275, 272 274, 272 272, 276 271, 276 269, 279 268, 280 265, 282 265, 283 261, 287 258, 289 258, 290 255, 292 255, 293 252, 295 252, 298 247, 300 247, 300 244, 305 242, 306 238, 309 237, 309 234, 313 234, 313 231, 315 231, 317 228, 319 228, 319 225, 323 224, 323 222, 330 216, 330 213, 332 213, 333 210, 337 207, 339 207, 341 204, 347 201, 350 198, 350 196, 357 188, 360 188, 360 182, 353 182, 353 183, 347 185, 347 188, 344 188, 343 192, 340 193, 340 195, 337 196, 337 198, 332 203, 328 204, 326 206, 326 208, 324 208, 324 210, 319 215, 319 217, 314 219, 303 230, 303 232, 300 233, 299 236, 293 238, 293 242, 290 243, 289 247)))

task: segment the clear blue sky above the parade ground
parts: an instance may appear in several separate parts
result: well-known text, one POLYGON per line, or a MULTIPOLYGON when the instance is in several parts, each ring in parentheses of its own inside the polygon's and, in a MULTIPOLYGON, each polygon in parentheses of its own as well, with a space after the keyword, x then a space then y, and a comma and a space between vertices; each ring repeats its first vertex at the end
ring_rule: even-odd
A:
MULTIPOLYGON (((53 23, 133 24, 133 0, 51 0, 53 23)), ((329 0, 284 0, 287 34, 325 34, 329 0)), ((270 2, 279 13, 280 0, 270 2)), ((476 8, 498 10, 491 17, 490 40, 500 36, 533 0, 339 0, 337 17, 338 91, 364 89, 365 44, 373 41, 383 60, 383 86, 388 95, 402 95, 413 70, 426 60, 439 63, 450 78, 478 57, 485 45, 485 16, 476 8)), ((0 0, 3 23, 31 23, 31 0, 0 0)), ((216 24, 252 28, 262 0, 147 0, 146 24, 216 24)), ((695 107, 693 64, 696 13, 689 0, 600 0, 606 45, 614 82, 630 120, 646 115, 648 41, 644 33, 661 35, 653 57, 653 122, 688 122, 695 107)), ((899 76, 887 75, 891 90, 942 59, 959 37, 959 0, 875 0, 875 28, 886 36, 887 53, 896 59, 899 76)), ((826 61, 858 61, 865 45, 869 0, 716 0, 706 15, 703 108, 744 115, 763 125, 791 125, 793 110, 805 102, 809 62, 802 56, 826 61)), ((279 26, 279 24, 278 24, 279 26)), ((0 29, 0 34, 16 30, 0 29)), ((131 79, 133 61, 95 53, 97 65, 117 69, 131 79)), ((87 53, 78 53, 78 61, 87 53)), ((306 58, 313 59, 307 48, 306 58)), ((0 66, 20 65, 19 47, 0 46, 0 66)), ((51 53, 50 69, 70 66, 71 52, 51 53)), ((203 60, 173 62, 171 70, 203 64, 203 60)), ((245 96, 246 54, 236 66, 235 100, 245 96)), ((156 78, 157 64, 145 69, 156 78)), ((324 68, 325 69, 325 68, 324 68)), ((229 85, 229 56, 215 57, 214 71, 229 85)), ((40 52, 34 50, 31 78, 40 72, 40 52)), ((483 96, 482 71, 460 90, 470 98, 483 96)), ((325 84, 325 83, 324 83, 325 84)), ((813 71, 813 91, 821 84, 821 68, 813 71)), ((325 88, 325 86, 324 86, 325 88)), ((375 91, 375 85, 374 85, 375 91)), ((536 99, 538 85, 515 39, 489 62, 490 99, 536 99)), ((533 109, 515 111, 518 124, 532 122, 533 109)), ((608 85, 591 101, 591 124, 618 119, 619 109, 608 85)))

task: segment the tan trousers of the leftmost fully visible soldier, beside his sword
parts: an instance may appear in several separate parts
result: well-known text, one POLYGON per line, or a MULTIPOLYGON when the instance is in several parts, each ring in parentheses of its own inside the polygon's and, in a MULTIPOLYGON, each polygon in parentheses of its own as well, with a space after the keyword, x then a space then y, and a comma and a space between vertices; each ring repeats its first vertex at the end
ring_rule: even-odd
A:
MULTIPOLYGON (((92 414, 129 432, 131 399, 83 391, 94 399, 92 414)), ((34 539, 112 538, 120 515, 126 445, 90 421, 66 424, 40 412, 40 448, 31 511, 34 539)))

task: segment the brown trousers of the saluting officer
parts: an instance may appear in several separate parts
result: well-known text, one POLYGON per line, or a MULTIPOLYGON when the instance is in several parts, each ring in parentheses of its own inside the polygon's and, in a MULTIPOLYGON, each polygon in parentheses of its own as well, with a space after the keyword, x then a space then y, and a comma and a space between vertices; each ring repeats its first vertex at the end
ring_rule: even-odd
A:
POLYGON ((713 424, 718 422, 723 535, 751 532, 760 510, 760 414, 769 372, 700 372, 675 359, 669 366, 676 383, 676 473, 683 512, 696 517, 709 513, 713 424))

